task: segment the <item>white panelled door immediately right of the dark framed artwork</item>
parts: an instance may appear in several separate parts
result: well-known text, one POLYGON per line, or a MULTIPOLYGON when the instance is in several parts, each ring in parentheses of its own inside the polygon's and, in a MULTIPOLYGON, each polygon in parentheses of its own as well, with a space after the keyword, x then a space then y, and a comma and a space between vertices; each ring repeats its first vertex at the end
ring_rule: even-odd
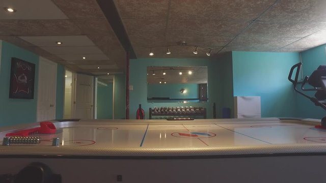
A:
POLYGON ((37 121, 56 118, 57 64, 40 57, 37 121))

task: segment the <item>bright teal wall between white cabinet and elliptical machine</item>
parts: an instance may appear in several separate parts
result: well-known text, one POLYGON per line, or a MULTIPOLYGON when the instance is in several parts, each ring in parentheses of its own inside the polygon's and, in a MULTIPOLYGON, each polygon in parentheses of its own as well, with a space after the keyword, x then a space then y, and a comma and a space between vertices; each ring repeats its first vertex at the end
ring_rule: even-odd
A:
POLYGON ((260 96, 262 117, 298 117, 287 77, 299 53, 232 52, 234 96, 260 96))

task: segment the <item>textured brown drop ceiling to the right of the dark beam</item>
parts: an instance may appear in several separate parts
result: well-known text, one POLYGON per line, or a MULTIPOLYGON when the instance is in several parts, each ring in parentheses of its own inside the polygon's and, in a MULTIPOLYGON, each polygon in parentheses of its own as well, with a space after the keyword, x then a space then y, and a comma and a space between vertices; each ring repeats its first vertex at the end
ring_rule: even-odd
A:
MULTIPOLYGON (((133 9, 137 6, 132 2, 135 1, 115 1, 139 57, 149 57, 150 47, 171 45, 180 40, 218 49, 224 47, 222 52, 278 51, 282 48, 292 51, 326 43, 321 41, 324 40, 321 36, 310 41, 304 39, 326 28, 322 22, 326 21, 326 13, 322 11, 326 3, 322 0, 171 0, 170 8, 166 6, 169 1, 151 1, 148 5, 148 1, 141 0, 137 1, 139 9, 133 9), (153 6, 155 3, 157 6, 153 6), (157 11, 155 7, 159 7, 157 11), (167 17, 168 24, 164 27, 167 17), (201 41, 201 37, 210 40, 201 41)), ((154 57, 171 57, 164 54, 164 49, 154 57)), ((194 57, 191 54, 181 57, 194 57)))

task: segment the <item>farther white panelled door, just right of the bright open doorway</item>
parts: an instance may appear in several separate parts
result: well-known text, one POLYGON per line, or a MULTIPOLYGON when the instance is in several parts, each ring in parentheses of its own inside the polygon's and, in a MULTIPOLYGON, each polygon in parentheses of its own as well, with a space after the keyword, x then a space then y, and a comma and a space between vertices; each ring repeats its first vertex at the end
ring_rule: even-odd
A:
POLYGON ((76 76, 75 118, 93 119, 93 79, 85 74, 76 76))

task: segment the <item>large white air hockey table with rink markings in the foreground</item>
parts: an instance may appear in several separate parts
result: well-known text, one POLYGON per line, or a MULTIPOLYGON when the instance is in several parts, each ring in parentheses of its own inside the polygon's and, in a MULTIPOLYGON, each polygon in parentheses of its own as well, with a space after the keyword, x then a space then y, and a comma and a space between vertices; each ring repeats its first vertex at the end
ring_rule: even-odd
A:
MULTIPOLYGON (((51 182, 326 182, 317 119, 51 122, 56 133, 30 135, 38 144, 0 146, 0 174, 41 165, 51 182)), ((37 126, 0 128, 0 137, 37 126)))

